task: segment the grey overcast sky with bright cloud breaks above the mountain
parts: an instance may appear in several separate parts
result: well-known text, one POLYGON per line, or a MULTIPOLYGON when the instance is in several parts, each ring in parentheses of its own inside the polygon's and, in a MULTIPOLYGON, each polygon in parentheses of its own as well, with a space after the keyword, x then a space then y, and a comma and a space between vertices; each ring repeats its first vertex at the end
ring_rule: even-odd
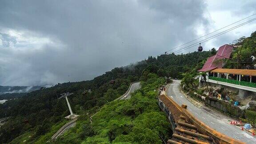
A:
MULTIPOLYGON (((0 85, 90 80, 254 13, 255 0, 0 0, 0 85)), ((253 31, 255 21, 204 50, 253 31)))

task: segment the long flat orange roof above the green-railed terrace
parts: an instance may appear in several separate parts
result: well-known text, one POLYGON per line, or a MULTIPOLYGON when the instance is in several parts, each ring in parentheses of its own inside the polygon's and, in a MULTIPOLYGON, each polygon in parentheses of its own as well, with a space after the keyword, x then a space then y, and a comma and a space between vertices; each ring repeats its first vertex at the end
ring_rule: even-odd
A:
POLYGON ((228 69, 228 68, 216 68, 211 72, 220 72, 220 73, 229 73, 235 75, 248 75, 248 76, 256 76, 255 69, 228 69))

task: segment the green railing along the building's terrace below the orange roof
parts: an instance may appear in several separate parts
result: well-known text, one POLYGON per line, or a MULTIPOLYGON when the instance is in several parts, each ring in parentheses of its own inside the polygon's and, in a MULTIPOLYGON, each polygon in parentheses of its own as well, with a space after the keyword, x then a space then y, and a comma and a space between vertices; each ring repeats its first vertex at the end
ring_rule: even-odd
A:
POLYGON ((229 84, 237 84, 237 85, 242 85, 242 86, 246 86, 246 87, 256 88, 256 83, 250 83, 250 82, 246 82, 246 81, 230 80, 230 79, 218 78, 218 77, 213 77, 213 76, 209 76, 209 79, 221 81, 221 82, 225 82, 225 83, 229 83, 229 84))

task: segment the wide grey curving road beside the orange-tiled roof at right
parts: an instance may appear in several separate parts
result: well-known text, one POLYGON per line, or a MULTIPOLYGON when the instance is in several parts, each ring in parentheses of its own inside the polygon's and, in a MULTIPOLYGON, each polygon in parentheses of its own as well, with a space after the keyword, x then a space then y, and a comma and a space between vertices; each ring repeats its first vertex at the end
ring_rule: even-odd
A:
POLYGON ((173 84, 168 87, 166 92, 167 96, 171 97, 177 104, 187 104, 188 111, 212 129, 247 144, 256 144, 256 137, 252 137, 251 133, 242 131, 239 127, 229 124, 229 120, 232 120, 232 118, 212 110, 205 105, 196 104, 196 106, 192 104, 192 102, 180 92, 179 85, 180 80, 173 80, 173 84))

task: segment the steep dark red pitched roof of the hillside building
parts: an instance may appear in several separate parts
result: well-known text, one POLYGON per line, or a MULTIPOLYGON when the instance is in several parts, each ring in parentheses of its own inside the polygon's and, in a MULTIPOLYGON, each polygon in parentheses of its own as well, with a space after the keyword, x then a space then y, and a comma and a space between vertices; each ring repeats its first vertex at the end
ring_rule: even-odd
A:
POLYGON ((208 72, 210 70, 213 70, 215 68, 222 68, 223 67, 223 61, 216 61, 221 59, 229 59, 231 52, 233 51, 233 46, 225 44, 221 46, 216 53, 216 55, 211 56, 208 58, 208 60, 204 63, 204 66, 202 69, 198 70, 199 72, 208 72))

